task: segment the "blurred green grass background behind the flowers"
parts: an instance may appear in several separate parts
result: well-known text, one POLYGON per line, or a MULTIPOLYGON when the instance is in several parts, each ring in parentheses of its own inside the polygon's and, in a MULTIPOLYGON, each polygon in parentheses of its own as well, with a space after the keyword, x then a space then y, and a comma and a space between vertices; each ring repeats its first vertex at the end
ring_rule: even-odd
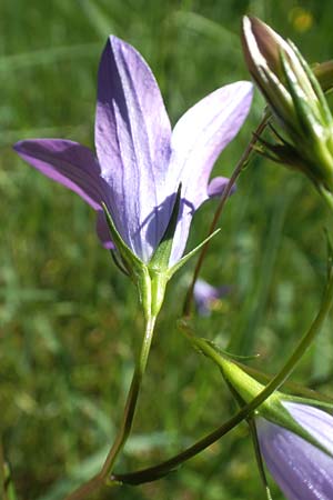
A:
MULTIPOLYGON (((114 33, 149 61, 171 120, 215 88, 248 79, 239 40, 252 13, 310 61, 332 58, 332 2, 322 0, 2 0, 0 3, 0 432, 22 500, 60 500, 101 466, 123 409, 142 319, 135 290, 94 233, 94 213, 11 151, 63 137, 93 146, 95 74, 114 33)), ((228 174, 260 120, 221 156, 228 174)), ((194 219, 205 236, 214 203, 194 219)), ((325 278, 325 209, 309 183, 255 158, 221 220, 202 277, 231 286, 198 333, 261 357, 273 373, 309 327, 325 278)), ((221 377, 175 328, 194 261, 169 287, 133 437, 118 470, 175 453, 235 410, 221 377)), ((293 376, 333 396, 332 329, 293 376)), ((273 484, 274 499, 281 494, 273 484)), ((95 499, 245 500, 264 497, 240 426, 179 472, 95 499)))

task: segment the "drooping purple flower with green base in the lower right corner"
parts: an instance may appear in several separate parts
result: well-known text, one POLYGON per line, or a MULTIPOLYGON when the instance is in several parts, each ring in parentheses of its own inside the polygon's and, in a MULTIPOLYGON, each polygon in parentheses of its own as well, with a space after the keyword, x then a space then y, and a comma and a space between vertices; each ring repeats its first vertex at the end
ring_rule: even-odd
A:
MULTIPOLYGON (((262 393, 264 386, 225 353, 212 356, 211 342, 194 344, 220 367, 241 407, 262 393)), ((275 391, 252 410, 260 452, 289 500, 333 499, 333 417, 317 404, 275 391)))

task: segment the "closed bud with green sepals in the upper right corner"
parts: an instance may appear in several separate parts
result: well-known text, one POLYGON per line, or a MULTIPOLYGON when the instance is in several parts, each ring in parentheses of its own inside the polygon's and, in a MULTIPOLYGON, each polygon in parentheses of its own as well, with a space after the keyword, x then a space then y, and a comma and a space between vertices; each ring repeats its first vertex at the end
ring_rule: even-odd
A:
POLYGON ((333 118, 324 96, 333 84, 332 61, 312 70, 291 41, 255 18, 244 18, 242 41, 249 70, 282 130, 273 129, 276 143, 262 141, 263 152, 333 193, 333 118))

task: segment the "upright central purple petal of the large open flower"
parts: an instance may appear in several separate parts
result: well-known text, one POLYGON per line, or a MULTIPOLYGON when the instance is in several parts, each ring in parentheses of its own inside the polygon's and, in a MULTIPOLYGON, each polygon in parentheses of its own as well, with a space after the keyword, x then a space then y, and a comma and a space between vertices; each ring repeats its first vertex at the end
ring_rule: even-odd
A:
POLYGON ((110 37, 98 83, 95 146, 111 189, 113 222, 134 253, 148 261, 172 211, 165 201, 170 121, 157 81, 133 47, 110 37))

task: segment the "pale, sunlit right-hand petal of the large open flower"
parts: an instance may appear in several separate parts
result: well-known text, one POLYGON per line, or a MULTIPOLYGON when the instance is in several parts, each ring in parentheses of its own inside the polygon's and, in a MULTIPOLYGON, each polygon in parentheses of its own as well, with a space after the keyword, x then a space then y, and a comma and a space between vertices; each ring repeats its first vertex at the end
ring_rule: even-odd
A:
POLYGON ((176 123, 171 139, 169 189, 182 182, 181 220, 171 263, 182 256, 194 211, 208 199, 213 164, 243 124, 252 101, 246 81, 215 90, 191 108, 176 123))

